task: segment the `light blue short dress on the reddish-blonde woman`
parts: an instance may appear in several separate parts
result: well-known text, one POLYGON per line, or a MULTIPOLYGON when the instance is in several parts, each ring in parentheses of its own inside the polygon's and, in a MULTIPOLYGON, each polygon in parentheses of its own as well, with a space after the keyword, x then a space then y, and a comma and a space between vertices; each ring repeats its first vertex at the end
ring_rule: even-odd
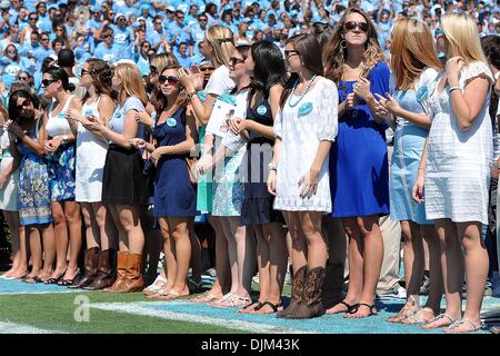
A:
MULTIPOLYGON (((420 75, 414 89, 393 90, 392 97, 404 110, 429 113, 427 99, 433 90, 437 76, 436 69, 428 68, 420 75)), ((429 130, 400 117, 396 119, 396 125, 390 170, 391 220, 432 224, 426 217, 424 205, 417 204, 412 198, 429 130)))

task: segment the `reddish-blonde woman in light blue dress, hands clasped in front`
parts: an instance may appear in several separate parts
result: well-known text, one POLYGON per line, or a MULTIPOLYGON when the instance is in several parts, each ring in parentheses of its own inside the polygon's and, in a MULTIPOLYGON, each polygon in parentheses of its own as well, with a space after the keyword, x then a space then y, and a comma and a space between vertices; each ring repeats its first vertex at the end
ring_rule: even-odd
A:
POLYGON ((421 21, 403 19, 392 32, 392 96, 378 95, 382 106, 396 118, 394 150, 390 171, 391 219, 401 221, 404 236, 407 303, 391 323, 420 323, 439 312, 442 295, 439 240, 423 205, 412 199, 420 157, 431 126, 427 109, 441 65, 432 47, 429 28, 421 21), (409 36, 411 33, 411 36, 409 36), (422 50, 428 49, 428 50, 422 50), (429 246, 431 291, 420 309, 420 281, 424 269, 423 239, 429 246))

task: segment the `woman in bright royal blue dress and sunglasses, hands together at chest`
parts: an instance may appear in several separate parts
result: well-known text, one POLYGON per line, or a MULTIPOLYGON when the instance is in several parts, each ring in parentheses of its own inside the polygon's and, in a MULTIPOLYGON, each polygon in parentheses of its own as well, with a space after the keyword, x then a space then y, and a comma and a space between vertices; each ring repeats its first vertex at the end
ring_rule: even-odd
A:
POLYGON ((383 258, 379 216, 389 214, 389 168, 383 116, 374 93, 389 90, 389 68, 367 14, 349 9, 326 52, 327 77, 339 88, 339 132, 330 152, 333 217, 349 236, 349 289, 327 313, 367 317, 383 258), (339 56, 342 52, 343 56, 339 56))

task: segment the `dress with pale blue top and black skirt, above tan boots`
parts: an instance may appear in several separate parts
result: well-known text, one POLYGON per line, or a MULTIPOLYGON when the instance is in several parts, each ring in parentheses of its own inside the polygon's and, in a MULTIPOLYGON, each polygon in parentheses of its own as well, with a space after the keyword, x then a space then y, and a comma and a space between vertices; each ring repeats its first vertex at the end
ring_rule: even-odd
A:
MULTIPOLYGON (((109 127, 114 132, 123 135, 124 118, 128 111, 146 111, 141 100, 129 97, 122 106, 114 109, 109 127)), ((138 129, 138 137, 140 135, 138 129)), ((106 155, 102 174, 102 202, 117 205, 148 205, 149 189, 142 170, 144 161, 140 150, 124 148, 110 142, 106 155)))

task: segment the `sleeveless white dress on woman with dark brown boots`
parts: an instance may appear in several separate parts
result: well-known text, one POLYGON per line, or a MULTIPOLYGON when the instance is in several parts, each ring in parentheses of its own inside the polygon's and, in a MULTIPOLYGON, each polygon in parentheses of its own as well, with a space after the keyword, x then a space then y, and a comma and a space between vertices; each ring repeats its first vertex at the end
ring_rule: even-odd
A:
MULTIPOLYGON (((99 119, 99 100, 84 103, 81 112, 99 119)), ((102 175, 104 172, 108 142, 97 138, 78 122, 77 136, 77 172, 76 200, 81 202, 98 202, 102 200, 102 175)))

